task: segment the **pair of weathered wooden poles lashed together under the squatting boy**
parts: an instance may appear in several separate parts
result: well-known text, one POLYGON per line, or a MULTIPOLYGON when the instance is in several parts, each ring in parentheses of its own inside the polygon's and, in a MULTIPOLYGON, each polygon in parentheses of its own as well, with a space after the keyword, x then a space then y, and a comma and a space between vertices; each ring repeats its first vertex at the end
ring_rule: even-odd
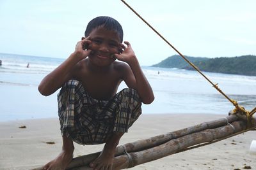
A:
MULTIPOLYGON (((252 127, 256 127, 256 118, 251 119, 252 127)), ((142 139, 132 143, 126 143, 116 147, 113 169, 125 169, 152 160, 161 159, 174 153, 188 150, 191 147, 202 144, 211 144, 213 141, 242 132, 247 127, 247 120, 239 113, 225 118, 204 122, 192 127, 168 132, 148 139, 142 139)), ((72 159, 68 170, 91 169, 88 164, 99 156, 100 152, 91 153, 72 159)), ((42 167, 33 169, 39 170, 42 167)))

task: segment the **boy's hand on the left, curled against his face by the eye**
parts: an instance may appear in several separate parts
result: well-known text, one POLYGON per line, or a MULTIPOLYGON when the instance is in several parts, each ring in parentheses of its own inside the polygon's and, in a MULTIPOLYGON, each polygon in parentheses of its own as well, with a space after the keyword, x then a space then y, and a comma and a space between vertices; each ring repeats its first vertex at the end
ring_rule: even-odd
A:
POLYGON ((79 57, 80 60, 85 59, 92 51, 88 49, 90 43, 92 43, 92 41, 89 36, 84 38, 82 41, 77 42, 74 53, 76 53, 76 56, 79 57))

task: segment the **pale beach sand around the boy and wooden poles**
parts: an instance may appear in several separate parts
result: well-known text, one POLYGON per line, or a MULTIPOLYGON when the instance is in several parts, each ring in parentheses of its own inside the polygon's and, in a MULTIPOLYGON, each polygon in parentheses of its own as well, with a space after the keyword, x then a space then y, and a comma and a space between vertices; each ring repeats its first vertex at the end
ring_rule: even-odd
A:
MULTIPOLYGON (((226 115, 144 114, 123 136, 120 145, 223 117, 226 115)), ((59 128, 58 118, 0 122, 0 169, 31 169, 54 159, 62 144, 59 128), (21 126, 26 128, 19 128, 21 126)), ((256 169, 256 155, 249 154, 253 139, 256 139, 256 131, 249 131, 132 169, 256 169)), ((102 146, 75 144, 74 157, 99 152, 102 146)))

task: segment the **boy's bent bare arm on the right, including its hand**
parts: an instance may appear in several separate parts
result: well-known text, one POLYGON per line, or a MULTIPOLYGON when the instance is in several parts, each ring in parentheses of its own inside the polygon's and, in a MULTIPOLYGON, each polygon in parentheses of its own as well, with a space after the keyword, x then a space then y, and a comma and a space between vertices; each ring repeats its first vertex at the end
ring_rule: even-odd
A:
POLYGON ((154 101, 154 93, 145 77, 143 71, 141 70, 138 59, 133 52, 129 42, 124 42, 127 47, 122 45, 124 51, 120 55, 116 55, 118 60, 122 60, 129 64, 130 68, 125 71, 124 81, 128 87, 136 89, 142 99, 142 103, 150 104, 154 101))

